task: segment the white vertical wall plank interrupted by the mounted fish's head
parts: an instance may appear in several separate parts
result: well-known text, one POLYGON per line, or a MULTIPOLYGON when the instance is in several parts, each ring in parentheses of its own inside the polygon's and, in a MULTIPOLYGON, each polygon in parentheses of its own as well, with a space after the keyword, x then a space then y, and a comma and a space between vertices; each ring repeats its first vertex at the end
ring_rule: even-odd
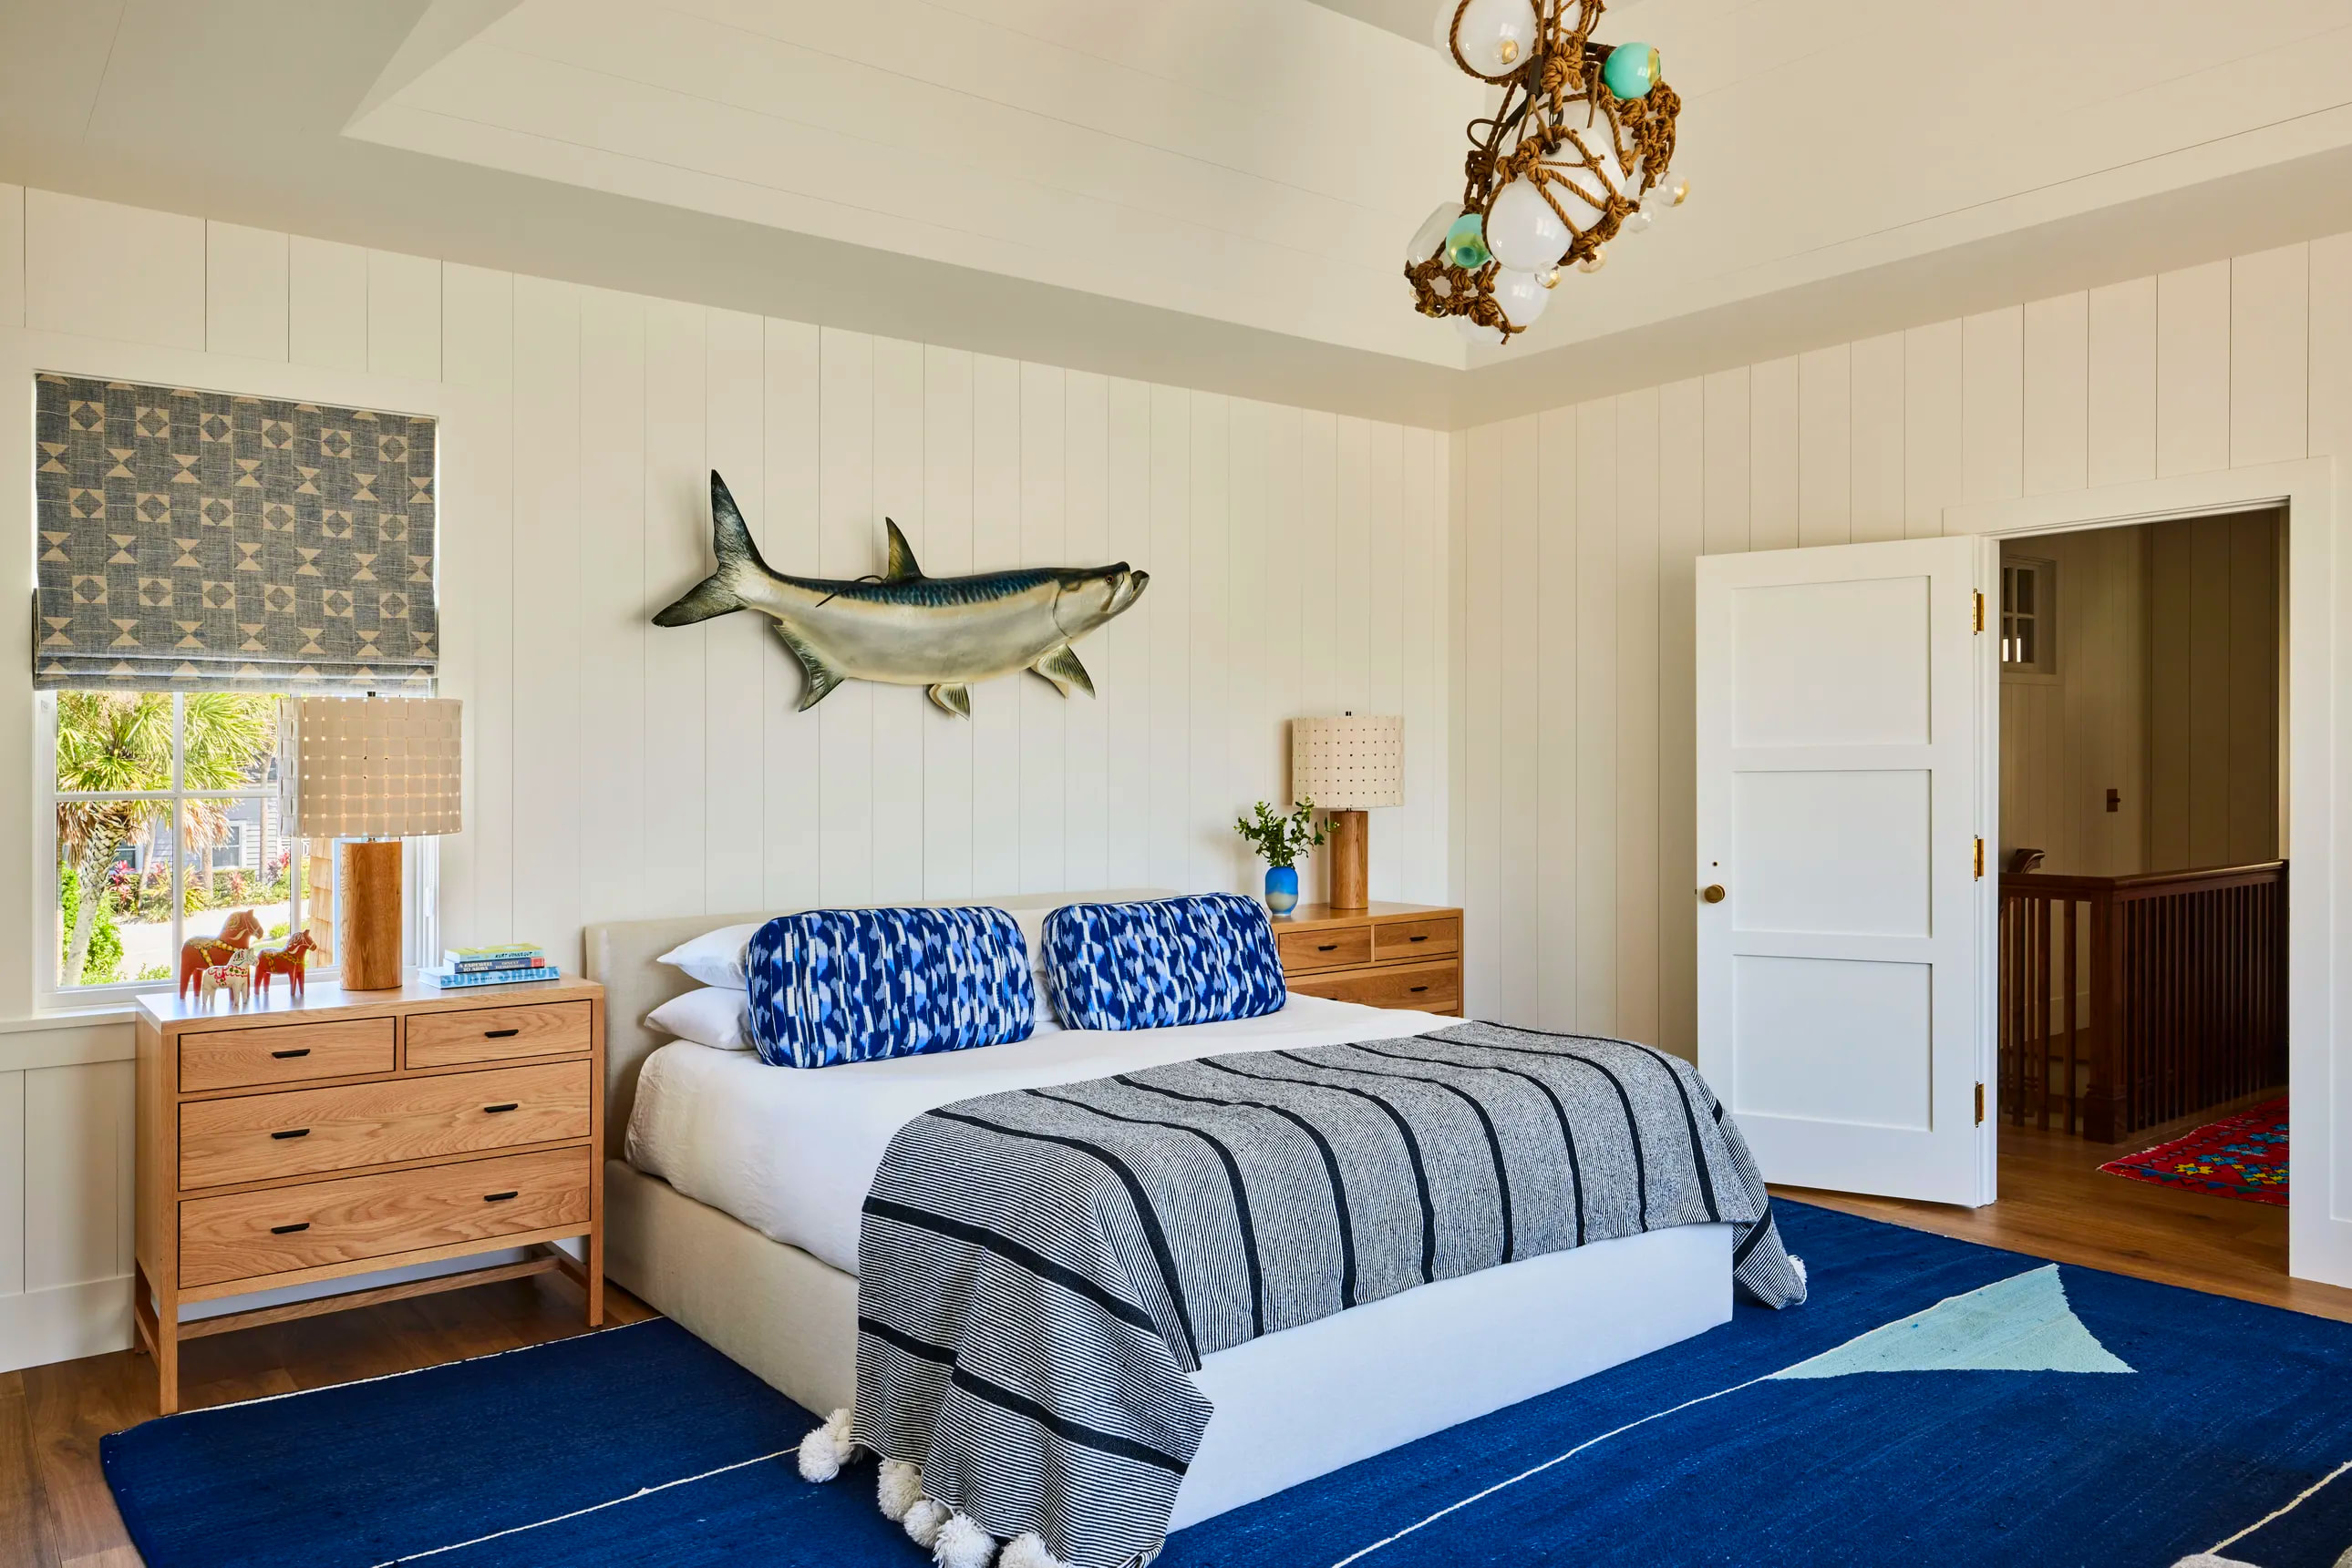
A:
MULTIPOLYGON (((1110 550, 1110 383, 1091 371, 1070 371, 1063 383, 1063 496, 1065 555, 1073 567, 1115 562, 1110 550)), ((1063 884, 1110 886, 1110 773, 1103 755, 1112 701, 1134 701, 1103 684, 1098 663, 1103 635, 1084 642, 1082 658, 1094 675, 1094 696, 1070 698, 1063 719, 1063 884)))

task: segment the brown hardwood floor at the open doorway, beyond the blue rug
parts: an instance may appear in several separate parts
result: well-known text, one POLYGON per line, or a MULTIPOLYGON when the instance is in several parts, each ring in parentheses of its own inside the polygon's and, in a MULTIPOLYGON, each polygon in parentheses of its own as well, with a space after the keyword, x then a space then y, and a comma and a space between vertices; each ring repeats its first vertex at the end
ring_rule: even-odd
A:
POLYGON ((2122 1175, 2103 1175, 2098 1168, 2117 1154, 2180 1138, 2206 1121, 2267 1100, 2270 1093, 2145 1128, 2117 1145, 2084 1143, 2030 1126, 2004 1126, 2002 1199, 1985 1208, 1865 1199, 1804 1187, 1773 1187, 1773 1192, 1962 1241, 2006 1246, 2034 1258, 2079 1262, 2352 1324, 2352 1291, 2286 1276, 2284 1208, 2173 1192, 2122 1175))

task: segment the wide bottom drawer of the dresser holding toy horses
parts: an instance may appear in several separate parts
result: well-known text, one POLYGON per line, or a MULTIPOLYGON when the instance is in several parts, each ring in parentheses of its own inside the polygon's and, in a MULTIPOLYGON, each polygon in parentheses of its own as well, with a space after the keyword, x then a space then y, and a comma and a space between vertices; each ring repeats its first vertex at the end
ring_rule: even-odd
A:
POLYGON ((588 1227, 590 1150, 470 1159, 233 1192, 179 1206, 179 1286, 463 1246, 557 1225, 588 1227))

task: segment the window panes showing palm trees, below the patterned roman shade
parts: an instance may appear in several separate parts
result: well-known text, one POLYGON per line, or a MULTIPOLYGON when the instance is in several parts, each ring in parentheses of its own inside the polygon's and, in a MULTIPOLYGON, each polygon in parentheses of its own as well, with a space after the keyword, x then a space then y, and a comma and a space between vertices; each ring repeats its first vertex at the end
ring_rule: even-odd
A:
POLYGON ((332 914, 320 860, 280 832, 278 696, 45 691, 40 705, 56 820, 47 992, 172 983, 181 943, 240 914, 263 940, 327 933, 306 919, 332 914))

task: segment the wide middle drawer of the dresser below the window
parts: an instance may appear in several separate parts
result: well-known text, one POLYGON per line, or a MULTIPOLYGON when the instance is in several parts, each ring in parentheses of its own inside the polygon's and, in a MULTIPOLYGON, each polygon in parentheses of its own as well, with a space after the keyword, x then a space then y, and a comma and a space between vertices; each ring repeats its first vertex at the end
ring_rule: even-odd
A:
POLYGON ((588 1063, 287 1088, 179 1107, 179 1185, 226 1187, 588 1135, 588 1063))

